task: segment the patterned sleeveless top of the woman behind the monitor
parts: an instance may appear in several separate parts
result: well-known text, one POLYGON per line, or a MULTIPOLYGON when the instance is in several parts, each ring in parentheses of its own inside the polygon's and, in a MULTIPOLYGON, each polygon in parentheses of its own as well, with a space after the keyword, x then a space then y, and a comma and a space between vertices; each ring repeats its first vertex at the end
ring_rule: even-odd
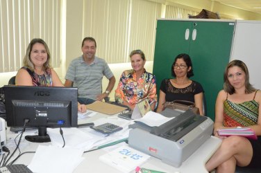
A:
POLYGON ((34 71, 31 71, 26 66, 22 67, 25 69, 29 75, 31 75, 33 86, 53 86, 53 81, 51 80, 51 69, 47 69, 42 75, 37 75, 34 71))

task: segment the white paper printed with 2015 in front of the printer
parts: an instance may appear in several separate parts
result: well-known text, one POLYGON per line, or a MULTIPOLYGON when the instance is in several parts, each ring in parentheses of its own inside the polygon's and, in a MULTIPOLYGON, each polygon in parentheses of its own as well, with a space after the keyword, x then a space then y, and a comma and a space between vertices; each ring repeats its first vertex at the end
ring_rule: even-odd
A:
POLYGON ((99 157, 101 161, 117 168, 121 172, 131 172, 149 158, 149 155, 128 147, 128 145, 121 146, 99 157))

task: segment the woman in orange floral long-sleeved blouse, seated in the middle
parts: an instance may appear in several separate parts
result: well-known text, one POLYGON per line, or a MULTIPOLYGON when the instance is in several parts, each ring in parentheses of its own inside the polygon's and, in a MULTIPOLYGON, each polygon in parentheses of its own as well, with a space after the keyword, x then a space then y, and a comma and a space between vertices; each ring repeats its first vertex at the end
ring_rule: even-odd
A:
POLYGON ((141 50, 130 53, 130 62, 133 69, 124 71, 115 90, 115 101, 134 109, 140 100, 147 99, 151 110, 157 102, 155 75, 144 69, 146 58, 141 50))

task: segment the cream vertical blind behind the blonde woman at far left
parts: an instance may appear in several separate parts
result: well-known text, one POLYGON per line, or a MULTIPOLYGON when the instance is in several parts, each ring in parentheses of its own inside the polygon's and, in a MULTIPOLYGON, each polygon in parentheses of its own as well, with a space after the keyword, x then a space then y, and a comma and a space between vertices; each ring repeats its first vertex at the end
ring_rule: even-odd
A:
POLYGON ((47 42, 51 65, 60 66, 60 1, 0 1, 0 73, 19 70, 36 37, 47 42))

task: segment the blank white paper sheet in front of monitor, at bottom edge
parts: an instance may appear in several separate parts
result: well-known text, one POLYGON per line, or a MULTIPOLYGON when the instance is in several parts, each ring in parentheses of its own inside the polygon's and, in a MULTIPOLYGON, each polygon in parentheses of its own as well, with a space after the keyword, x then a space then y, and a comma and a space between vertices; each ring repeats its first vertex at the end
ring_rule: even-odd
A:
POLYGON ((83 161, 83 150, 39 145, 29 169, 37 173, 71 173, 83 161))

